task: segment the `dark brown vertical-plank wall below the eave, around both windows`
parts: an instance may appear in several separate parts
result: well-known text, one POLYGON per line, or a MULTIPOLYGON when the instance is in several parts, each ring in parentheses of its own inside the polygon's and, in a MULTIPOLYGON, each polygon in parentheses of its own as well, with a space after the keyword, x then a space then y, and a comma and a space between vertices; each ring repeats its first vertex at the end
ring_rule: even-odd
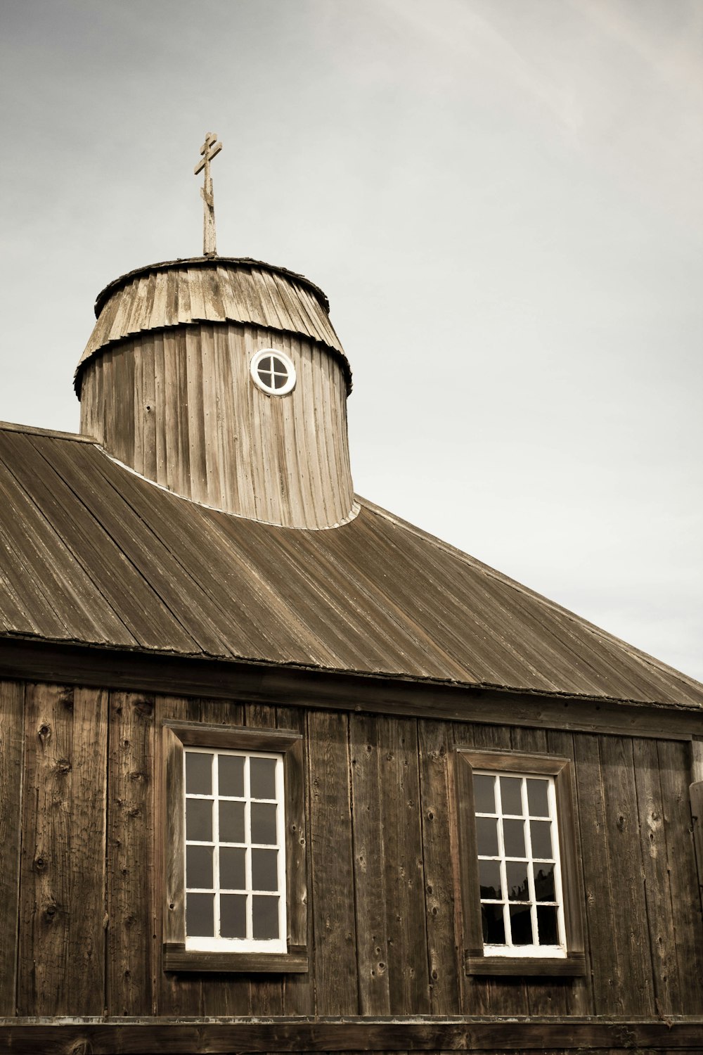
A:
POLYGON ((700 1014, 689 751, 666 740, 2 683, 0 1015, 700 1014), (162 972, 154 755, 164 718, 306 734, 307 975, 162 972), (455 744, 573 759, 585 978, 460 971, 455 744))

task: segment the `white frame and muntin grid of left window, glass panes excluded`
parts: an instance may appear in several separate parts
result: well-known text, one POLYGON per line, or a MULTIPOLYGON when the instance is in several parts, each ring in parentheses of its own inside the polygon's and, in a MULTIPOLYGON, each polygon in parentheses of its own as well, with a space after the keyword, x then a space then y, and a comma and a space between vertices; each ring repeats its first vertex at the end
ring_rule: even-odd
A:
POLYGON ((183 831, 185 831, 185 806, 188 800, 204 800, 213 802, 213 832, 212 840, 202 842, 185 838, 185 853, 183 855, 183 884, 185 900, 188 905, 189 894, 213 894, 214 895, 214 937, 188 934, 188 908, 185 910, 185 950, 199 952, 232 952, 232 953, 285 953, 286 952, 286 817, 285 817, 285 794, 284 794, 284 756, 282 754, 265 751, 246 751, 204 747, 187 747, 183 751, 183 831), (212 768, 212 794, 194 794, 185 788, 185 759, 188 754, 209 754, 213 757, 212 768), (234 755, 243 757, 245 761, 245 793, 243 795, 220 795, 218 787, 218 764, 223 755, 234 755), (250 784, 250 763, 252 759, 272 759, 275 761, 275 800, 258 800, 251 795, 250 784), (245 842, 228 843, 219 839, 219 809, 217 804, 224 802, 245 803, 245 842), (266 802, 276 805, 276 844, 254 843, 251 838, 251 805, 253 802, 266 802), (187 858, 189 846, 212 846, 213 847, 213 887, 190 887, 188 885, 187 858), (219 848, 221 846, 236 846, 246 850, 246 889, 230 890, 223 889, 219 882, 219 848), (277 889, 273 891, 254 890, 252 886, 252 849, 265 848, 277 851, 277 889), (247 897, 247 938, 226 938, 219 935, 220 927, 220 896, 222 894, 243 894, 247 897), (278 937, 277 938, 253 938, 252 937, 252 898, 253 896, 276 897, 278 899, 278 937))

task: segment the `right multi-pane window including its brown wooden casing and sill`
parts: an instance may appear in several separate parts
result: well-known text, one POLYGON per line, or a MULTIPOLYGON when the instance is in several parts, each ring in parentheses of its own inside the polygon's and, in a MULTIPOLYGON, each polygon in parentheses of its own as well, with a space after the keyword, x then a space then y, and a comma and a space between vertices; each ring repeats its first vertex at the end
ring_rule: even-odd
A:
POLYGON ((457 747, 453 783, 465 972, 583 975, 572 762, 457 747))

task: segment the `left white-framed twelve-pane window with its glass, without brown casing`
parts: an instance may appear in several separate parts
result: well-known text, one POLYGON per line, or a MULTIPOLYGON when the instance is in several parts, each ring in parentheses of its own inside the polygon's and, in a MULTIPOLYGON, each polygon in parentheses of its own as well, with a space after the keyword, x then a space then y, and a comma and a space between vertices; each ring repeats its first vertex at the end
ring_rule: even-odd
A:
POLYGON ((183 752, 185 948, 286 952, 284 760, 183 752))

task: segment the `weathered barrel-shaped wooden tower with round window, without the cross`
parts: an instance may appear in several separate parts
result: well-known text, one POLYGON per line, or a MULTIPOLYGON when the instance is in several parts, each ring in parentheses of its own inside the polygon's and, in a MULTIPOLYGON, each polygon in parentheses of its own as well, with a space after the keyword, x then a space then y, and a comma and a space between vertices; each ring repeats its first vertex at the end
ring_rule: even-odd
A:
POLYGON ((81 431, 109 454, 268 523, 354 515, 351 371, 313 283, 252 260, 179 260, 117 279, 95 313, 75 383, 81 431))

